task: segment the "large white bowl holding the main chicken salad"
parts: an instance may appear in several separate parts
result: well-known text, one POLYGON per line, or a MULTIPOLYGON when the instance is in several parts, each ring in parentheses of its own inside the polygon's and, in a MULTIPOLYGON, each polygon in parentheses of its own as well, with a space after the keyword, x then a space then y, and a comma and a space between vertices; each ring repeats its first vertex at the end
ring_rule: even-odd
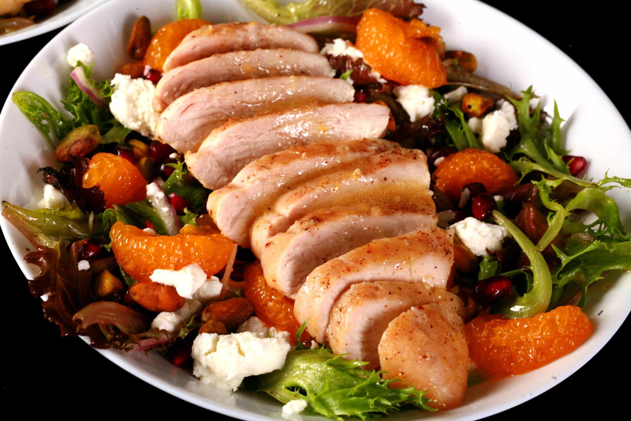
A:
MULTIPOLYGON (((20 76, 13 90, 31 90, 59 105, 61 85, 68 81, 66 51, 77 42, 86 42, 97 55, 96 78, 111 77, 126 60, 127 34, 139 15, 147 15, 154 28, 172 20, 171 0, 112 0, 83 16, 55 37, 35 56, 20 76), (156 4, 158 3, 158 4, 156 4), (103 18, 106 16, 106 18, 103 18)), ((631 177, 631 132, 610 100, 594 81, 569 57, 540 35, 518 21, 489 6, 466 0, 425 1, 423 18, 442 28, 450 49, 476 54, 478 73, 514 88, 530 84, 543 97, 546 110, 557 98, 567 123, 567 145, 590 162, 589 177, 610 174, 631 177), (480 25, 484 21, 485 25, 480 25), (498 37, 497 34, 504 34, 498 37), (577 89, 576 86, 580 86, 577 89), (598 122, 598 124, 594 124, 598 122), (594 139, 603 139, 598 146, 594 139), (606 142, 606 143, 604 143, 606 142), (615 151, 612 154, 611 151, 615 151)), ((252 20, 256 18, 235 0, 204 1, 204 18, 214 21, 252 20)), ((60 107, 61 108, 61 107, 60 107)), ((35 205, 40 195, 38 167, 54 164, 54 158, 42 136, 7 99, 0 114, 0 198, 18 205, 35 205)), ((622 210, 623 222, 631 227, 631 194, 627 189, 610 192, 622 210)), ((33 268, 23 261, 28 243, 0 218, 0 225, 20 268, 33 275, 33 268)), ((473 420, 519 405, 550 389, 570 376, 598 352, 620 327, 631 311, 631 273, 616 273, 599 281, 590 290, 585 308, 594 324, 594 335, 584 345, 557 361, 522 376, 483 383, 469 388, 463 406, 432 415, 433 420, 473 420), (600 316, 596 317, 597 314, 600 316)), ((134 376, 170 394, 204 408, 247 420, 279 419, 281 405, 266 396, 227 393, 198 382, 189 372, 169 364, 158 355, 99 351, 134 376)), ((423 412, 392 415, 392 420, 425 417, 423 412)))

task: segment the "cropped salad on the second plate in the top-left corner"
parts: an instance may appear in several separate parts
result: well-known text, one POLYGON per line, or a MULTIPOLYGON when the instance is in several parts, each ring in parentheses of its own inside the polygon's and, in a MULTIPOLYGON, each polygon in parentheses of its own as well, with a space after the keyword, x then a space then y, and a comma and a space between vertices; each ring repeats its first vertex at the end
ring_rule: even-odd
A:
POLYGON ((0 1, 0 35, 35 25, 35 20, 52 14, 68 0, 2 0, 0 1))

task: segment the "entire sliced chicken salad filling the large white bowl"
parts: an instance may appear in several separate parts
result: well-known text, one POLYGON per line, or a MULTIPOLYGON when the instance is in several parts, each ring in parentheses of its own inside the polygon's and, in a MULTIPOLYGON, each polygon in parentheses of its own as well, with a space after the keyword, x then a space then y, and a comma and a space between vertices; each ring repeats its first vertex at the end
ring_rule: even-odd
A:
POLYGON ((589 286, 631 269, 607 195, 631 181, 581 177, 557 107, 411 2, 246 3, 280 25, 180 1, 111 80, 73 47, 65 112, 14 93, 59 166, 3 216, 62 335, 336 419, 449 409, 579 347, 589 286))

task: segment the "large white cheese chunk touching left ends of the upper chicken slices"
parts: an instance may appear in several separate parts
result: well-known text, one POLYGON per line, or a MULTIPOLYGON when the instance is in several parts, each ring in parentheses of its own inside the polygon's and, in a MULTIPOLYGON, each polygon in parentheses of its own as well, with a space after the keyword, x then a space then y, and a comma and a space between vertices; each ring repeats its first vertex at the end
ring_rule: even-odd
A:
POLYGON ((132 79, 127 74, 117 73, 112 79, 114 93, 110 111, 127 129, 135 130, 150 139, 158 122, 158 114, 151 105, 155 86, 146 79, 132 79))

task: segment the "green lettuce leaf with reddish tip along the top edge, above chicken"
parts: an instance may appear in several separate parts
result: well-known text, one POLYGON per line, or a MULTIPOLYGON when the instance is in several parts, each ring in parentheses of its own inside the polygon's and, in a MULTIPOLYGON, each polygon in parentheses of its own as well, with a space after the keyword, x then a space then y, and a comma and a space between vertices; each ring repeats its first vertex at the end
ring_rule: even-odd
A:
POLYGON ((418 16, 424 7, 413 0, 307 0, 286 6, 277 0, 244 0, 244 3, 264 20, 278 25, 319 16, 360 16, 369 8, 382 9, 394 16, 418 16))

